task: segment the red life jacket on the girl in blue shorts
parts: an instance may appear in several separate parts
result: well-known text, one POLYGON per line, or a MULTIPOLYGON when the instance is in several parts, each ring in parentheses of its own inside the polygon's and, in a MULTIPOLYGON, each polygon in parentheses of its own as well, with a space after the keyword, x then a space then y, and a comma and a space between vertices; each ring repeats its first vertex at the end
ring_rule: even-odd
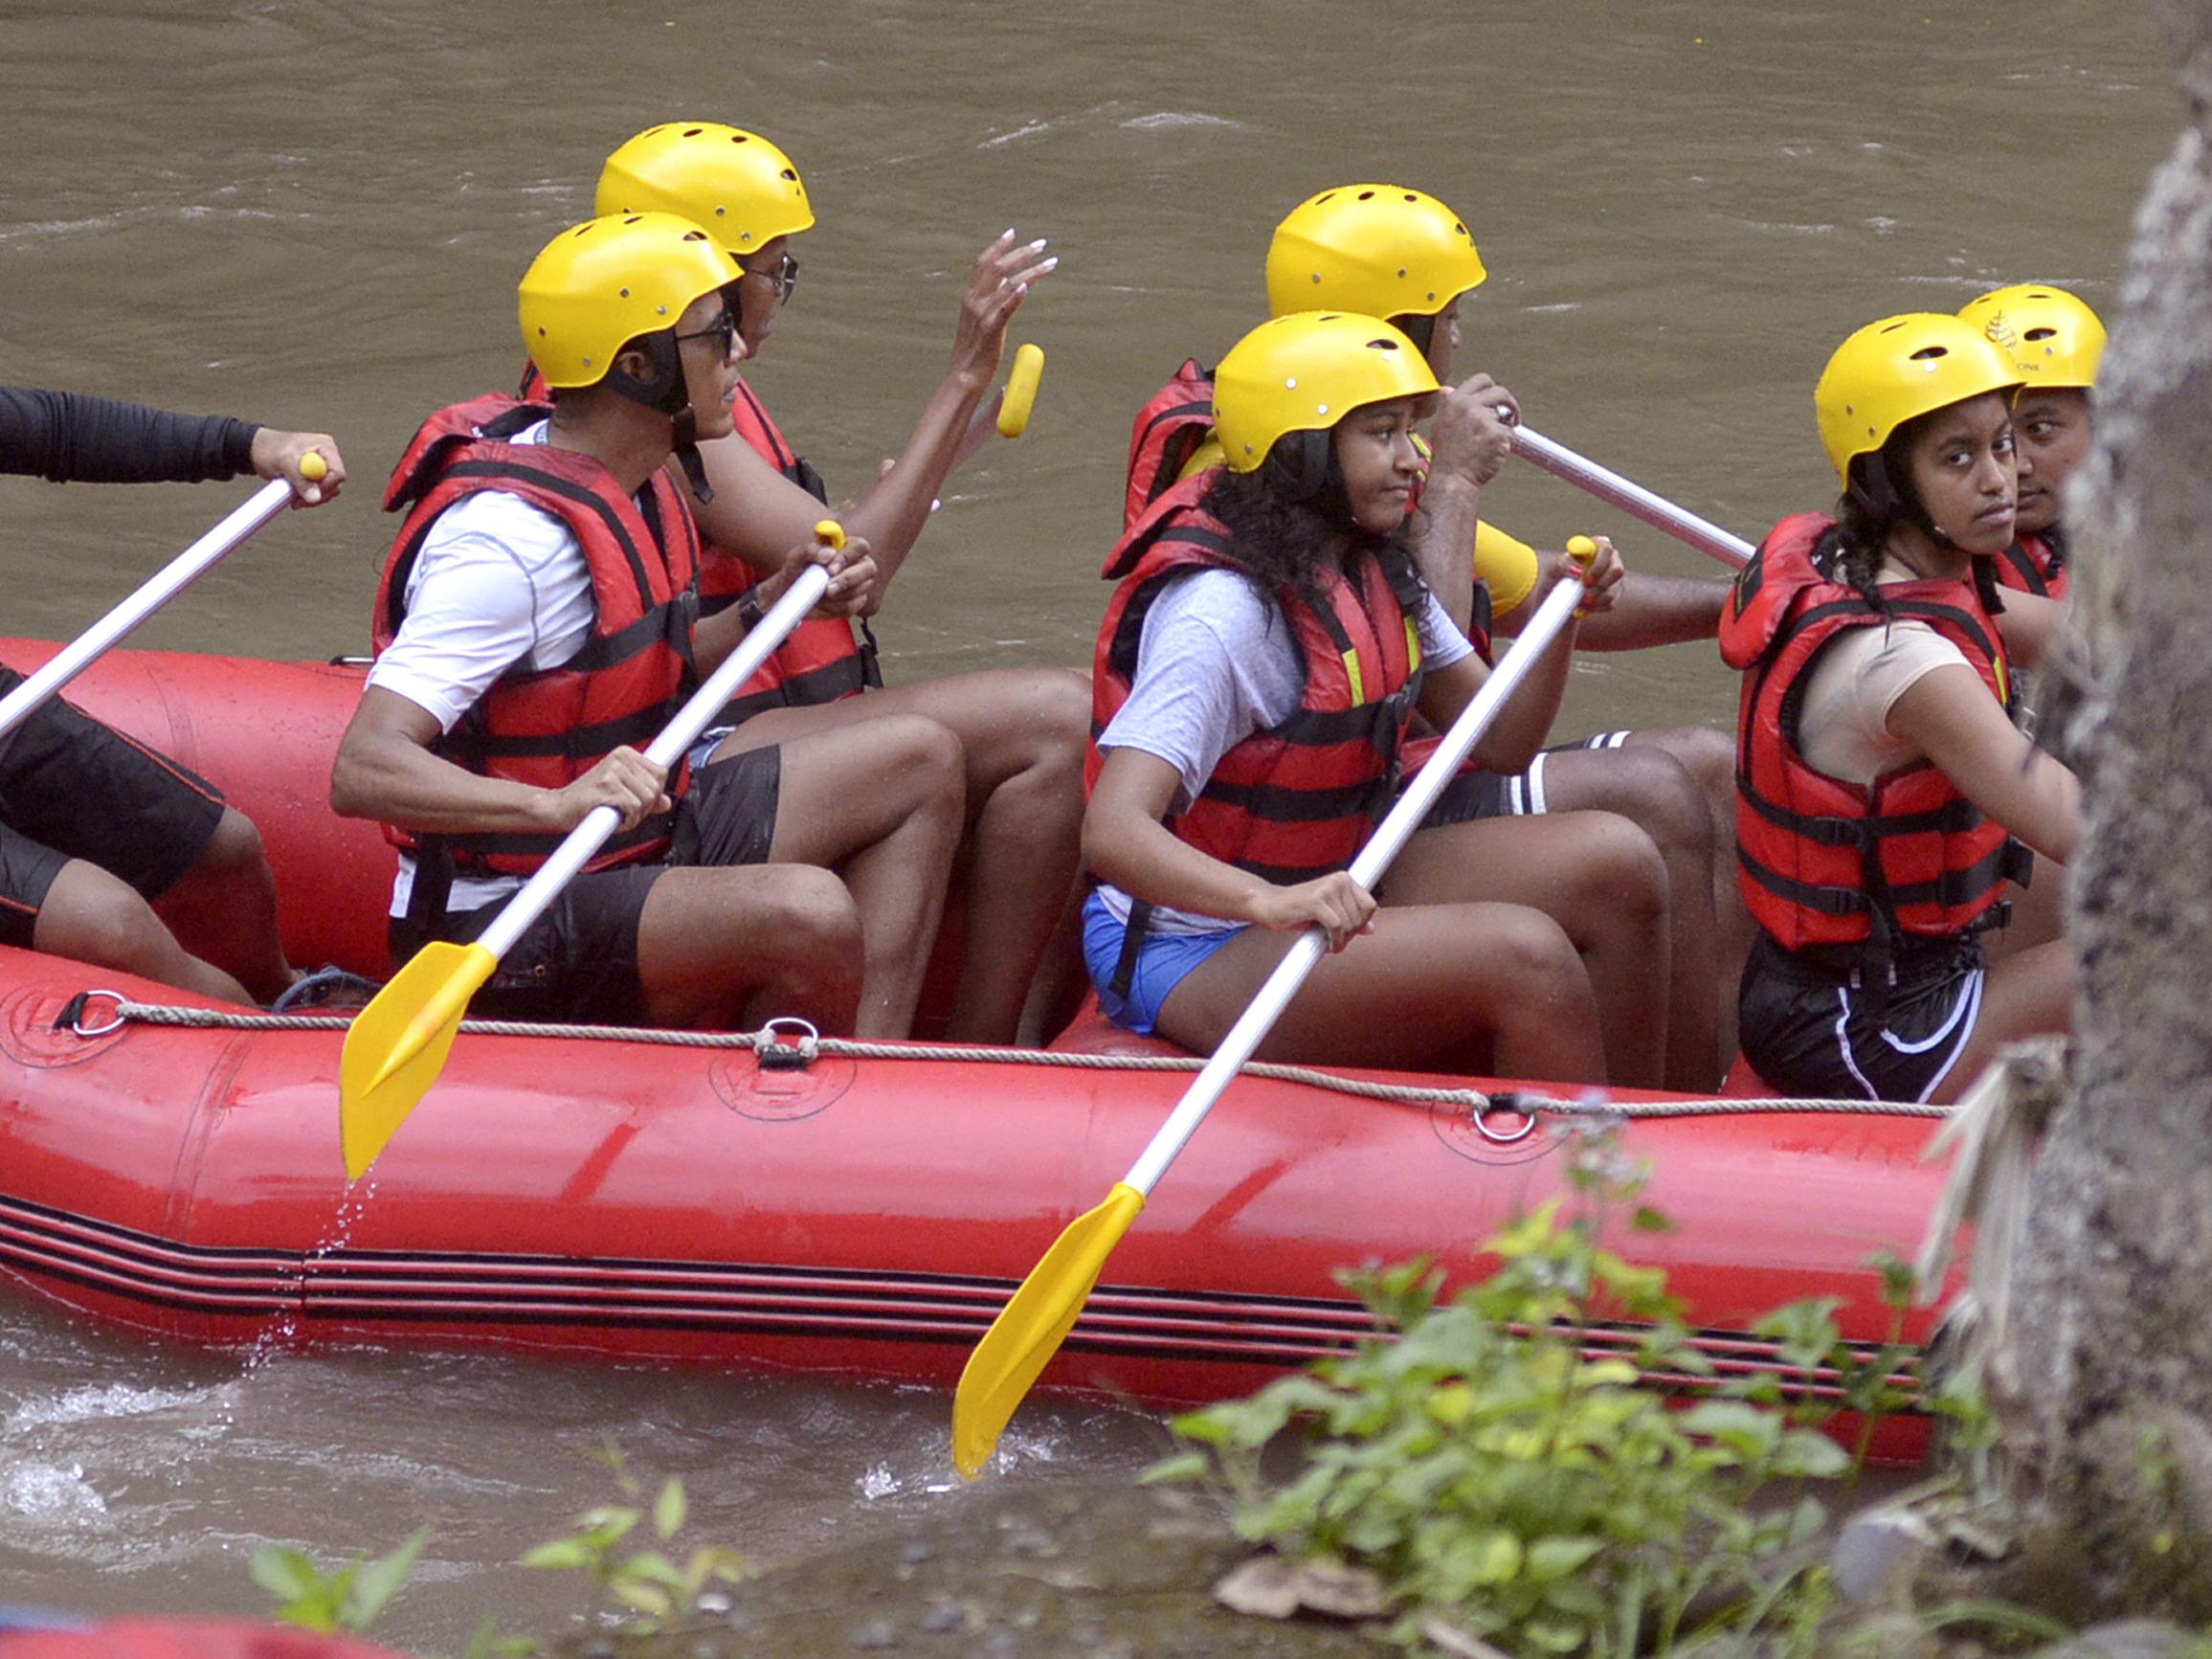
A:
MULTIPOLYGON (((1228 526, 1199 504, 1208 484, 1192 478, 1170 489, 1106 560, 1108 580, 1121 586, 1093 664, 1086 792, 1102 768, 1097 737, 1128 701, 1152 599, 1188 571, 1241 568, 1228 526)), ((1363 551, 1347 573, 1323 573, 1321 606, 1290 586, 1276 591, 1305 670, 1298 708, 1221 757, 1199 799, 1168 818, 1181 841, 1292 885, 1343 869, 1374 834, 1398 792, 1398 745, 1420 695, 1413 619, 1422 586, 1407 560, 1389 566, 1363 551)))

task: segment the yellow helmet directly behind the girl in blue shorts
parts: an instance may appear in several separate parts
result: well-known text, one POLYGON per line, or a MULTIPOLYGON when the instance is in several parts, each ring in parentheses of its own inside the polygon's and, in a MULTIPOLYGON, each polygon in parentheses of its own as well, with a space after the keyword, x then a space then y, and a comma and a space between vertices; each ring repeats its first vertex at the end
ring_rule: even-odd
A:
POLYGON ((1489 272, 1460 217, 1396 184, 1347 184, 1292 208, 1267 243, 1267 310, 1436 316, 1489 272))

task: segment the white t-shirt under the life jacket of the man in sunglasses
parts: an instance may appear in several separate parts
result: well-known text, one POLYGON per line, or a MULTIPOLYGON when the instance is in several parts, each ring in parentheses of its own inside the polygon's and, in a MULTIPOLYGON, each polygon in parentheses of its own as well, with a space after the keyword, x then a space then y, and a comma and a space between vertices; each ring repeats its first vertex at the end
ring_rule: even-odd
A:
MULTIPOLYGON (((546 425, 509 438, 540 445, 546 425)), ((591 639, 597 604, 584 549, 551 513, 504 489, 480 489, 438 515, 407 573, 407 617, 369 668, 369 686, 398 692, 438 721, 467 714, 515 664, 557 668, 591 639)), ((451 909, 515 891, 520 876, 456 876, 451 909)), ((400 854, 392 914, 407 914, 414 858, 400 854)))

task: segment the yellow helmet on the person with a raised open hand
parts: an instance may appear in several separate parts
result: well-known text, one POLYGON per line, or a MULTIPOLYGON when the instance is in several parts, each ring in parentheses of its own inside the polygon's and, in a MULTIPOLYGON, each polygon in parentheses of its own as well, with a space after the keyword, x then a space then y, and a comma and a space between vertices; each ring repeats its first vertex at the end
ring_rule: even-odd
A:
POLYGON ((675 212, 743 254, 814 223, 792 157, 741 126, 664 122, 599 168, 593 212, 675 212))

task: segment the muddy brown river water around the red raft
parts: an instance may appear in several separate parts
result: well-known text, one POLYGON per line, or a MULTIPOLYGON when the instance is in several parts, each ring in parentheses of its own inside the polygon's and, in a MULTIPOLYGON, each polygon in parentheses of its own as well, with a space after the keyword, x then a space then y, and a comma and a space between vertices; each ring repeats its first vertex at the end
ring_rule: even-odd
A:
MULTIPOLYGON (((1267 232, 1314 190, 1451 201, 1493 272, 1462 367, 1756 538, 1832 493, 1809 387, 1849 330, 2026 279, 2108 307, 2179 115, 2119 0, 0 0, 0 374, 330 429, 354 471, 142 644, 365 646, 385 471, 431 407, 513 383, 515 276, 641 126, 730 119, 803 168, 821 223, 752 380, 834 493, 933 387, 973 252, 1048 237, 1062 270, 1015 323, 1048 354, 1035 420, 907 564, 896 679, 1088 661, 1130 414, 1259 321, 1267 232)), ((4 633, 75 633, 241 495, 0 482, 4 633)), ((1528 469, 1486 511, 1714 568, 1528 469)), ((1710 648, 1608 657, 1562 734, 1730 703, 1710 648)), ((507 1562, 611 1498, 577 1453, 597 1436, 684 1475, 701 1537, 785 1555, 953 1502, 947 1418, 812 1380, 157 1352, 0 1285, 0 1604, 250 1610, 257 1544, 334 1557, 427 1522, 383 1632, 456 1652, 487 1610, 571 1606, 507 1562)), ((1009 1478, 1051 1480, 1161 1433, 1048 1405, 1013 1447, 1009 1478)))

